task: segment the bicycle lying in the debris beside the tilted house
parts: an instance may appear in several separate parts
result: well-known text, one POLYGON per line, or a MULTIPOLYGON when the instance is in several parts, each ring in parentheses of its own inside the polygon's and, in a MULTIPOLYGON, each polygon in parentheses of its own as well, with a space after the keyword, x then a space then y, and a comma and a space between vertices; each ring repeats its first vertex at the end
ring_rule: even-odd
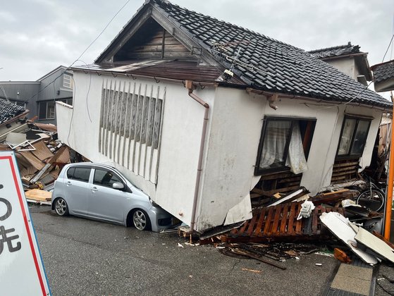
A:
POLYGON ((372 178, 369 179, 369 188, 360 192, 357 196, 356 204, 360 206, 364 206, 371 211, 380 211, 383 209, 384 202, 386 200, 386 192, 378 187, 373 181, 372 178))

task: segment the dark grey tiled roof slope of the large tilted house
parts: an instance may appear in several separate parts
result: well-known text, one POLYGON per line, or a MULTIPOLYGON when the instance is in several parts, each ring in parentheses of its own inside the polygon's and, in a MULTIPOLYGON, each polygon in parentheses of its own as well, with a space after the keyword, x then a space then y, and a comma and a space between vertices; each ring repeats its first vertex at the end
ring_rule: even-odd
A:
POLYGON ((211 51, 223 66, 230 67, 226 56, 235 57, 240 50, 236 59, 243 64, 235 63, 233 72, 254 88, 326 101, 392 106, 376 92, 302 49, 165 0, 150 3, 201 47, 211 51), (215 45, 226 56, 214 51, 215 45))

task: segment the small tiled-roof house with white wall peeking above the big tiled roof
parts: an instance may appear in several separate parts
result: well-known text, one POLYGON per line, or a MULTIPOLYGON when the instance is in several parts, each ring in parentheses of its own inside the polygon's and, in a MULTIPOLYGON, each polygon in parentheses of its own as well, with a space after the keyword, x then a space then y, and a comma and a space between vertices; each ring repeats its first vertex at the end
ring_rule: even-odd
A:
POLYGON ((372 73, 367 59, 368 53, 359 51, 358 45, 352 45, 349 42, 338 47, 315 49, 308 52, 315 58, 329 63, 363 85, 368 85, 368 81, 372 80, 372 73))

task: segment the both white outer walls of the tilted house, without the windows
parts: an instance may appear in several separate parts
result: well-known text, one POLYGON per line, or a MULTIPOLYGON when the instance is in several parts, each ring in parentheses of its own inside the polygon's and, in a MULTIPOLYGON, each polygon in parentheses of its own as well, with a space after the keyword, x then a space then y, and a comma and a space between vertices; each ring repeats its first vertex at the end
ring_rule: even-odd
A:
MULTIPOLYGON (((59 138, 94 162, 116 166, 155 202, 190 225, 204 107, 189 97, 185 87, 178 83, 78 72, 74 73, 74 79, 73 109, 56 104, 59 138), (110 158, 99 152, 101 89, 103 81, 108 79, 117 85, 132 82, 148 89, 159 87, 164 112, 156 184, 154 179, 116 164, 114 156, 110 158)), ((312 194, 331 182, 344 112, 374 117, 360 164, 364 168, 371 161, 381 111, 299 99, 278 99, 274 103, 278 106, 275 111, 264 96, 247 94, 245 90, 205 87, 194 93, 210 105, 196 212, 197 230, 250 218, 249 194, 259 180, 259 176, 254 176, 254 165, 264 116, 316 119, 309 170, 304 172, 301 183, 312 194)))

